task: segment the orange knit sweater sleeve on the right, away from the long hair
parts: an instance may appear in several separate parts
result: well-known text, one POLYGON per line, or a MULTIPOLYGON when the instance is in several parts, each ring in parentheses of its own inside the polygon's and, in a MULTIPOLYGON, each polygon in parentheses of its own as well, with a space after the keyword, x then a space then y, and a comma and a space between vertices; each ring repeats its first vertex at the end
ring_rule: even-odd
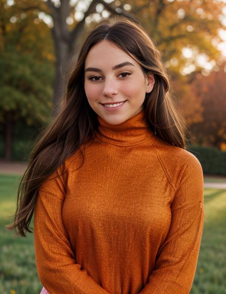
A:
POLYGON ((155 269, 140 294, 188 294, 197 266, 202 229, 203 173, 192 155, 171 203, 171 225, 155 269))

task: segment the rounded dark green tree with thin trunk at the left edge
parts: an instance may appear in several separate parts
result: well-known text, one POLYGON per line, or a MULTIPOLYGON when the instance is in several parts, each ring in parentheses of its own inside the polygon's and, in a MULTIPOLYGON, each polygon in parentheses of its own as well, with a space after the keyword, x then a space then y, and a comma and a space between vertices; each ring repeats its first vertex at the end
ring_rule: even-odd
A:
POLYGON ((41 126, 50 117, 53 69, 30 55, 9 51, 0 54, 0 75, 0 128, 10 160, 14 124, 41 126))

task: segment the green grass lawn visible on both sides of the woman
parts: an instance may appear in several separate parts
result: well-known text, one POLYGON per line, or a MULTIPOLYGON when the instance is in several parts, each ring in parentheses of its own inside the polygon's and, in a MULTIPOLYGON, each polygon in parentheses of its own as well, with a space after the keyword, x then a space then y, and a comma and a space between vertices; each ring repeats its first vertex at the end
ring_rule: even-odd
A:
MULTIPOLYGON (((14 237, 5 225, 15 211, 19 176, 0 175, 0 293, 38 294, 41 291, 33 234, 14 237)), ((205 189, 205 221, 191 294, 226 294, 226 190, 205 189)), ((166 293, 167 294, 167 293, 166 293)))

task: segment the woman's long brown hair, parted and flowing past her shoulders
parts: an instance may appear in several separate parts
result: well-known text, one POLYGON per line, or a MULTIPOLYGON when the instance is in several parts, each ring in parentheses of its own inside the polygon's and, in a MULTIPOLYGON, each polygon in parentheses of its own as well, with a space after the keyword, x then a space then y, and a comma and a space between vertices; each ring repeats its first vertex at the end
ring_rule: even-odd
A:
POLYGON ((95 137, 98 120, 84 91, 84 63, 92 46, 102 40, 115 43, 141 65, 144 74, 154 75, 154 88, 144 101, 149 127, 168 144, 185 149, 186 123, 169 92, 169 77, 155 42, 140 24, 125 17, 101 21, 80 50, 60 113, 31 152, 18 189, 14 223, 7 226, 9 230, 16 229, 16 235, 25 237, 27 231, 32 232, 29 225, 40 185, 82 144, 95 137))

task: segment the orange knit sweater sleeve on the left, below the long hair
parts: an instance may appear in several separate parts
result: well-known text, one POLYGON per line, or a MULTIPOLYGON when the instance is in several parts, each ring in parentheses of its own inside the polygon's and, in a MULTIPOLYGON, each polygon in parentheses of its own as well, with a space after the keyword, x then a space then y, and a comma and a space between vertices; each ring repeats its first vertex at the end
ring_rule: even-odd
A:
POLYGON ((62 221, 64 203, 62 177, 46 180, 39 189, 34 216, 37 271, 51 294, 107 294, 75 261, 62 221))

